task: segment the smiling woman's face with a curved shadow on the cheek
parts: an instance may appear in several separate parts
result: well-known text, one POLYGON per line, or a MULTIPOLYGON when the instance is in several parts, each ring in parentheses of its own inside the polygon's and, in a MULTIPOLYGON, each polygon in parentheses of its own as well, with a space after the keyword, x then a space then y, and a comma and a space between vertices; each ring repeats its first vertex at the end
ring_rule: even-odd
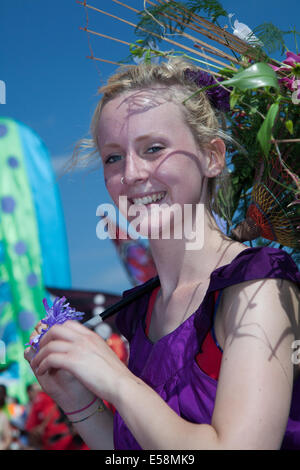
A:
POLYGON ((168 90, 118 96, 104 106, 98 129, 105 183, 117 206, 120 196, 147 209, 204 202, 205 158, 168 90))

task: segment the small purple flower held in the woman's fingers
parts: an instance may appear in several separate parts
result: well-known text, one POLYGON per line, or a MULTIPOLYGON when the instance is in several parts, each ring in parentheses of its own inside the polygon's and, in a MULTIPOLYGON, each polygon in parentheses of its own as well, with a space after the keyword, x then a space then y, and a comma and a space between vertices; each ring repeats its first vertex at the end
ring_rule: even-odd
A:
POLYGON ((47 315, 45 318, 42 319, 42 323, 46 325, 46 328, 42 330, 42 332, 35 336, 33 340, 31 340, 29 343, 30 346, 32 346, 36 351, 39 350, 39 344, 42 339, 42 337, 47 333, 47 331, 51 328, 53 325, 62 325, 68 320, 82 320, 84 313, 83 312, 77 312, 74 308, 70 307, 69 303, 66 302, 66 297, 56 297, 56 299, 53 302, 52 307, 49 307, 47 300, 43 299, 43 304, 45 307, 45 310, 47 312, 47 315))

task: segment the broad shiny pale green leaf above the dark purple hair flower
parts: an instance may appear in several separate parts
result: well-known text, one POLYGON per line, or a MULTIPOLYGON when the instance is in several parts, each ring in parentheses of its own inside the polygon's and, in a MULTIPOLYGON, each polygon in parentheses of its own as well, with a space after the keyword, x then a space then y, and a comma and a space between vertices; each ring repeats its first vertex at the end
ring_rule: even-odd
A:
POLYGON ((237 72, 229 80, 224 80, 222 85, 233 86, 241 91, 265 86, 272 86, 279 90, 276 73, 269 65, 263 62, 253 64, 247 69, 237 72))

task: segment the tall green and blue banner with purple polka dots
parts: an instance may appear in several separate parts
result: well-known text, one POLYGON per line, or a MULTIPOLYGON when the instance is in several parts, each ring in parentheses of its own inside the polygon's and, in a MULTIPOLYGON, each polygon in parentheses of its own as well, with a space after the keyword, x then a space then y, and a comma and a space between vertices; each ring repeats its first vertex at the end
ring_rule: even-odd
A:
MULTIPOLYGON (((33 376, 20 358, 34 325, 45 316, 47 284, 58 288, 71 284, 50 155, 32 129, 0 117, 0 340, 1 332, 12 325, 16 335, 6 338, 6 371, 17 372, 8 392, 21 403, 27 400, 26 386, 33 376)), ((1 374, 0 368, 0 382, 1 374)))

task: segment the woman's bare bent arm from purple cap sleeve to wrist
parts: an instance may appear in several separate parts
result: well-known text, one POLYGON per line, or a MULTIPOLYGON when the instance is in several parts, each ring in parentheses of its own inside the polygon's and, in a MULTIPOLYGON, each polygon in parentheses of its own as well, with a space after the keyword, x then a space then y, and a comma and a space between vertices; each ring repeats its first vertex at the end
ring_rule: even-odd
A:
POLYGON ((224 293, 225 345, 211 425, 184 421, 145 383, 126 378, 115 403, 143 449, 278 449, 293 384, 299 293, 282 280, 224 293))

